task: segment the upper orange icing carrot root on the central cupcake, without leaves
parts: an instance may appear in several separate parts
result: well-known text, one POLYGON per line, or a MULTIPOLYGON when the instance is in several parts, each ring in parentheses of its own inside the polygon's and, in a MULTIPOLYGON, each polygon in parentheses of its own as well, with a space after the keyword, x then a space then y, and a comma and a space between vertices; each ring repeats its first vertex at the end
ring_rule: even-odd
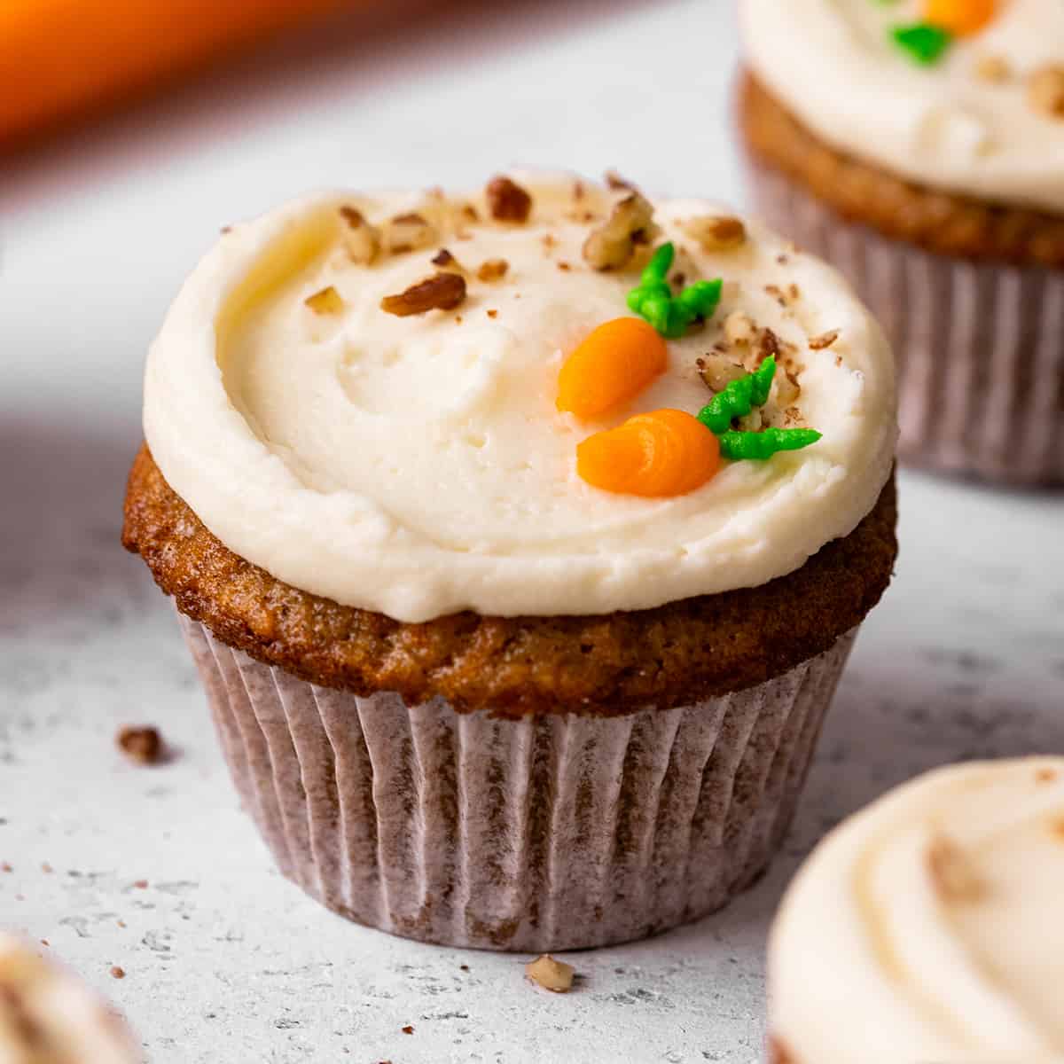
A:
POLYGON ((665 340, 642 318, 615 318, 593 330, 558 376, 558 409, 598 417, 637 396, 668 365, 665 340))

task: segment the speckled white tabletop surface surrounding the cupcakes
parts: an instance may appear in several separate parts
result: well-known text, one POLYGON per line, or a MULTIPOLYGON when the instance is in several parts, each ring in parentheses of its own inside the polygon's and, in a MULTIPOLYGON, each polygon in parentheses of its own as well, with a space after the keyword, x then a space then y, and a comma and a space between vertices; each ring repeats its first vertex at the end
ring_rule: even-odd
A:
POLYGON ((905 473, 897 579, 783 855, 717 916, 570 957, 567 996, 527 958, 327 913, 237 807, 170 606, 118 546, 142 362, 183 276, 311 187, 615 166, 742 202, 735 61, 726 0, 397 0, 0 160, 0 926, 48 940, 151 1061, 748 1064, 767 924, 827 828, 932 765, 1064 751, 1064 500, 905 473), (124 722, 178 757, 130 765, 124 722))

